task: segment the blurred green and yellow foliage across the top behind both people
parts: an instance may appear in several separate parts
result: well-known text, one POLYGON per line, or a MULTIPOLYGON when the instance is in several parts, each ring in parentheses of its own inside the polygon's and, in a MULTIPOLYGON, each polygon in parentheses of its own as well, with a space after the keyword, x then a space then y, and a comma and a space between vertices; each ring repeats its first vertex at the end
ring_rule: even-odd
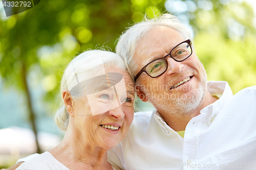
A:
POLYGON ((228 81, 234 93, 256 84, 254 13, 235 0, 44 0, 1 16, 1 76, 6 86, 26 91, 26 78, 39 66, 45 102, 54 110, 62 71, 77 53, 102 45, 114 51, 126 27, 166 10, 191 26, 208 80, 228 81))

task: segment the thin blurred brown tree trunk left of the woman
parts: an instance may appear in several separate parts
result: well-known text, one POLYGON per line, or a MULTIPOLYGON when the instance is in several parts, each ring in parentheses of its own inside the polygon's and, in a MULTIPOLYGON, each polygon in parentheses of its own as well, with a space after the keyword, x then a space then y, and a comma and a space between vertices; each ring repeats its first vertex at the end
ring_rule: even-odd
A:
POLYGON ((34 113, 33 108, 32 108, 31 94, 30 94, 30 91, 29 91, 29 88, 28 88, 26 72, 27 72, 26 65, 25 65, 25 63, 23 61, 22 62, 22 82, 24 84, 25 94, 26 94, 26 99, 27 99, 27 104, 28 104, 29 120, 30 120, 31 125, 32 125, 32 130, 33 130, 33 132, 35 134, 35 142, 36 142, 36 147, 37 147, 37 151, 36 152, 41 154, 42 151, 41 151, 41 149, 39 147, 39 144, 38 144, 37 128, 36 128, 36 125, 35 125, 36 116, 35 116, 35 113, 34 113))

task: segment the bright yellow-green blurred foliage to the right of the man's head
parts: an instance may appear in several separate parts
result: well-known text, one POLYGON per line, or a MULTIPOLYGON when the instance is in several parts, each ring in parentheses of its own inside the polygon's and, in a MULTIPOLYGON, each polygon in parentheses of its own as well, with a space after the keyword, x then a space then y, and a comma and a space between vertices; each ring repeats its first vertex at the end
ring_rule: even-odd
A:
POLYGON ((169 0, 166 9, 191 26, 208 81, 227 81, 233 93, 256 85, 255 15, 247 2, 169 0))

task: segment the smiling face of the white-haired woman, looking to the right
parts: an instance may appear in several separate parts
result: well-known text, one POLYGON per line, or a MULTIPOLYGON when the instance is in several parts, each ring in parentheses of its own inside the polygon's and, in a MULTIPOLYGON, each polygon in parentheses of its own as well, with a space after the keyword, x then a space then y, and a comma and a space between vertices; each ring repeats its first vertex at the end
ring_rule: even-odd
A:
POLYGON ((107 79, 90 79, 86 97, 74 101, 74 128, 82 143, 114 148, 126 135, 134 116, 134 84, 127 71, 108 69, 107 79))

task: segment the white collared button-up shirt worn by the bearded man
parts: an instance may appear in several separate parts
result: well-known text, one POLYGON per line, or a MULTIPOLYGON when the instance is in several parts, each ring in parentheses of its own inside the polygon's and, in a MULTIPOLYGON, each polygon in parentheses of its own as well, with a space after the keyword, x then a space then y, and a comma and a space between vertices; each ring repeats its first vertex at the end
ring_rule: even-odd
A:
POLYGON ((184 138, 156 110, 138 112, 109 161, 126 170, 256 169, 256 86, 234 96, 226 82, 207 87, 222 96, 189 121, 184 138))

